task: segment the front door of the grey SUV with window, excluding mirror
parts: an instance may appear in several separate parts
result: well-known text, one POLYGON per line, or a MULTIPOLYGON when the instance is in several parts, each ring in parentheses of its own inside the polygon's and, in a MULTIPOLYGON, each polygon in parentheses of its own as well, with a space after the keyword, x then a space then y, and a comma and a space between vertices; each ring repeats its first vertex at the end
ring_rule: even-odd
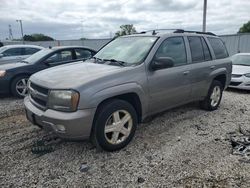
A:
POLYGON ((191 66, 187 63, 184 38, 181 36, 167 38, 156 51, 155 57, 172 58, 174 66, 148 72, 151 113, 186 103, 191 94, 189 78, 191 66))

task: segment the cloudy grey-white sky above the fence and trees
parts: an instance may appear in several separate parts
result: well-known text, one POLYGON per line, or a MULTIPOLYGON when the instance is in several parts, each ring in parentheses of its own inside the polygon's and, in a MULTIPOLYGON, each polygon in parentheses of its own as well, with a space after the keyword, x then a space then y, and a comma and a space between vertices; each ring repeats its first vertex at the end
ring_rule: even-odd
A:
MULTIPOLYGON (((109 38, 122 24, 201 30, 203 0, 0 0, 0 40, 43 33, 55 39, 109 38)), ((208 0, 207 30, 233 34, 250 20, 250 0, 208 0)))

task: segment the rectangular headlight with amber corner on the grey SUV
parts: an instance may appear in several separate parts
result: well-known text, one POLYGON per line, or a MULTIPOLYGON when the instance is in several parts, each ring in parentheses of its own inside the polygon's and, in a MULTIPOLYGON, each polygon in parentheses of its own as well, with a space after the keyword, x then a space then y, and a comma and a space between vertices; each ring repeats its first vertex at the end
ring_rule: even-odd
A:
POLYGON ((51 90, 49 93, 48 108, 73 112, 77 110, 80 95, 73 90, 51 90))

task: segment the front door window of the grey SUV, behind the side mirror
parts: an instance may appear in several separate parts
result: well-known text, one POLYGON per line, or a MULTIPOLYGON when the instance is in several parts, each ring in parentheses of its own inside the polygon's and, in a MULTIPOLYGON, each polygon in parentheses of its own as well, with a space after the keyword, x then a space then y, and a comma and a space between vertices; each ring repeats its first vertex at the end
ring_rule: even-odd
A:
POLYGON ((182 37, 171 37, 166 39, 157 50, 156 57, 170 57, 174 60, 174 65, 187 63, 186 49, 182 37))

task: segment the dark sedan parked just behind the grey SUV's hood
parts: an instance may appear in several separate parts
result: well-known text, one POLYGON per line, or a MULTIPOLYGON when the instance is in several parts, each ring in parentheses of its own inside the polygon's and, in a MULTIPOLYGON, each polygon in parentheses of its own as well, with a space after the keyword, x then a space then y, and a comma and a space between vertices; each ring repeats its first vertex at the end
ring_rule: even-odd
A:
MULTIPOLYGON (((21 62, 0 65, 0 94, 11 93, 16 97, 24 97, 28 92, 27 81, 32 74, 50 67, 86 60, 95 53, 93 49, 80 46, 45 48, 21 62)), ((64 78, 67 79, 67 76, 65 74, 64 78)))

